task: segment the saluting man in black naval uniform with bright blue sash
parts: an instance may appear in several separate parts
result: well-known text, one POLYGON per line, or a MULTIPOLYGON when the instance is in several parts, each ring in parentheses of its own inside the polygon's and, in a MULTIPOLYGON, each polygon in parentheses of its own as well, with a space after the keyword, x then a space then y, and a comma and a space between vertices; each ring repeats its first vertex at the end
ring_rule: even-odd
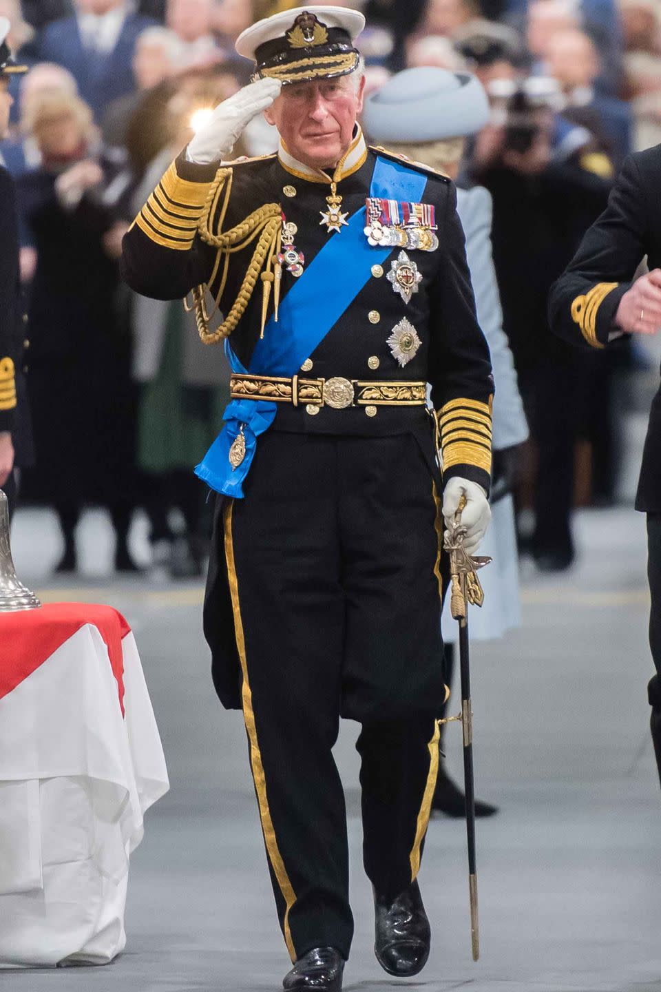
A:
POLYGON ((362 724, 377 957, 398 976, 427 960, 443 516, 465 498, 469 551, 490 518, 493 380, 455 187, 367 148, 364 23, 296 8, 245 31, 237 50, 260 78, 216 108, 124 242, 131 286, 192 292, 200 336, 224 339, 232 366, 197 466, 219 493, 205 634, 218 694, 246 720, 294 962, 283 986, 330 992, 353 935, 340 716, 362 724), (221 164, 262 111, 277 154, 221 164))

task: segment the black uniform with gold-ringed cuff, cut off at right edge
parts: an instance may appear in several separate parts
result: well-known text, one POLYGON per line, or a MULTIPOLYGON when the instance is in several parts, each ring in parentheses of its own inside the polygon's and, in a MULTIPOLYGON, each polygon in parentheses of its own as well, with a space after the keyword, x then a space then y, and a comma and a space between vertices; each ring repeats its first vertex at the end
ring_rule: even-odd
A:
MULTIPOLYGON (((551 327, 561 337, 583 348, 606 347, 643 258, 650 270, 661 268, 660 185, 661 145, 625 160, 606 210, 552 288, 551 327)), ((657 670, 649 701, 661 777, 661 386, 652 401, 635 506, 647 514, 650 647, 657 670)))

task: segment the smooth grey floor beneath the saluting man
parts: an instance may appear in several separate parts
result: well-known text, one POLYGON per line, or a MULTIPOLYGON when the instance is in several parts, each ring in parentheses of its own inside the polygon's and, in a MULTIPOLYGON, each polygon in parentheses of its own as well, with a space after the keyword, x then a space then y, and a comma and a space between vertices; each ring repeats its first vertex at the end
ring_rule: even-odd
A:
MULTIPOLYGON (((19 515, 22 577, 45 598, 104 600, 130 619, 159 720, 171 791, 149 814, 130 877, 127 951, 106 968, 4 972, 6 992, 276 990, 288 963, 275 924, 238 714, 216 703, 200 630, 201 588, 114 582, 108 530, 83 522, 84 575, 48 578, 55 523, 19 515)), ((578 566, 523 575, 522 628, 473 653, 482 959, 470 954, 464 832, 432 820, 421 885, 433 949, 418 981, 374 959, 360 862, 355 730, 337 748, 352 843, 356 939, 345 988, 448 992, 661 990, 659 787, 646 722, 644 520, 577 521, 578 566)), ((136 547, 144 546, 140 525, 136 547), (142 544, 141 544, 142 543, 142 544)), ((458 772, 460 733, 450 736, 458 772)))

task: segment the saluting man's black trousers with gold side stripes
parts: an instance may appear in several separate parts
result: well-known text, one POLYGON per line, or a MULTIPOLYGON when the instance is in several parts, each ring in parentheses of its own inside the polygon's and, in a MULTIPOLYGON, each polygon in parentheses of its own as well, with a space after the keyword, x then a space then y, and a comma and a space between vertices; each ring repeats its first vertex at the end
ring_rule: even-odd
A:
POLYGON ((438 492, 410 435, 272 432, 228 501, 224 551, 243 707, 292 958, 353 935, 340 715, 359 720, 364 861, 380 893, 417 875, 444 698, 438 492))

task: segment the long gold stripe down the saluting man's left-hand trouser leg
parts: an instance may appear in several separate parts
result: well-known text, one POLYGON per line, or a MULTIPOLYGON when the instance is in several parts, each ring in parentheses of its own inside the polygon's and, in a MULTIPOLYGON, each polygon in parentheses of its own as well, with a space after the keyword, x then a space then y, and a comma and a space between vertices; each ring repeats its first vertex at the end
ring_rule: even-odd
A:
POLYGON ((291 939, 291 930, 289 930, 289 912, 293 904, 296 902, 296 896, 291 887, 291 882, 289 881, 289 876, 287 875, 284 862, 282 861, 282 857, 277 847, 277 840, 275 839, 274 821, 271 818, 271 810, 269 808, 267 781, 264 774, 264 765, 262 764, 262 753, 257 739, 255 713, 253 712, 253 693, 250 688, 250 682, 248 681, 248 666, 246 664, 246 639, 244 637, 241 607, 239 605, 239 584, 237 581, 237 570, 234 561, 234 544, 232 541, 233 509, 234 503, 230 503, 225 513, 225 558, 227 560, 227 574, 230 583, 230 592, 232 595, 232 610, 234 612, 234 629, 237 639, 237 650, 239 652, 241 671, 243 674, 243 713, 246 721, 246 729, 248 730, 248 739, 250 741, 250 760, 253 769, 253 778, 255 780, 258 803, 260 806, 260 817, 262 819, 264 839, 266 841, 269 860, 271 861, 271 865, 274 869, 277 884, 286 904, 286 910, 284 912, 284 941, 286 943, 287 950, 289 951, 291 960, 295 961, 296 952, 293 946, 293 940, 291 939))

